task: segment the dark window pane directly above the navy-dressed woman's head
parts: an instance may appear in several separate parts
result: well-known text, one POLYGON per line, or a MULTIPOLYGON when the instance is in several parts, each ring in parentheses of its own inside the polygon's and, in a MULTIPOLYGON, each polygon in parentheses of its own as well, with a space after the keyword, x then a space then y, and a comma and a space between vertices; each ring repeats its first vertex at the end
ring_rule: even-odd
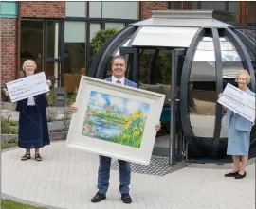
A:
POLYGON ((20 66, 27 59, 37 64, 37 70, 43 71, 43 21, 21 21, 21 51, 20 66))

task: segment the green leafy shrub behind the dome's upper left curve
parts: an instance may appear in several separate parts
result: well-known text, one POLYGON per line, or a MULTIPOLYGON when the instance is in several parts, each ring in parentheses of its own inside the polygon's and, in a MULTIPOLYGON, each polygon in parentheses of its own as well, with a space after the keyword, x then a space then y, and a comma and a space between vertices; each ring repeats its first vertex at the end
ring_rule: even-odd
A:
POLYGON ((92 39, 91 47, 92 47, 92 55, 95 56, 105 44, 105 42, 113 35, 118 32, 116 28, 107 28, 101 29, 96 34, 95 37, 92 39))

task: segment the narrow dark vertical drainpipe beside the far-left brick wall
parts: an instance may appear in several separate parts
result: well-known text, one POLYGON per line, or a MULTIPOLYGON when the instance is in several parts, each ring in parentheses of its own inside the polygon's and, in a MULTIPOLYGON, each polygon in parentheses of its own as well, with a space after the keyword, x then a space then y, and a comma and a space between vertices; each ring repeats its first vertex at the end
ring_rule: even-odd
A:
POLYGON ((20 51, 21 51, 21 2, 18 3, 18 16, 17 16, 17 51, 16 51, 16 71, 15 78, 20 78, 20 51))

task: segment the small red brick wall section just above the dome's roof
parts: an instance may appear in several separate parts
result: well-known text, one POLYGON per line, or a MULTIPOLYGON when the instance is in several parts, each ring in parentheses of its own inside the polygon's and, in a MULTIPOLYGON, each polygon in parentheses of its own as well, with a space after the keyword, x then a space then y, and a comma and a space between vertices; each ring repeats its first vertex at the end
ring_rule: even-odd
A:
POLYGON ((168 9, 168 2, 141 2, 140 15, 141 20, 152 16, 151 9, 165 10, 168 9))

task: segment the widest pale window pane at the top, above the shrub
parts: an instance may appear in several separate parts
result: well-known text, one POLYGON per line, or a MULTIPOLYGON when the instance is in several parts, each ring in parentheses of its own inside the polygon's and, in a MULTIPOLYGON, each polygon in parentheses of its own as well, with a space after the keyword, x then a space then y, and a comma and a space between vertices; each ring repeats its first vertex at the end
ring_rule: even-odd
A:
POLYGON ((102 18, 138 19, 138 2, 102 2, 102 18))

